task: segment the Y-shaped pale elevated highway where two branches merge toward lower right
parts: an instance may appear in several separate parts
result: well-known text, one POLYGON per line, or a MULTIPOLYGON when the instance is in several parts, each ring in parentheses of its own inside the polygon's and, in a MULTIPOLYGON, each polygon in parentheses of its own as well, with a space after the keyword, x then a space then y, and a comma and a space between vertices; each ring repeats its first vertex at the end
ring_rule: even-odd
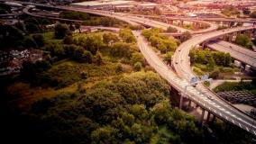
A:
MULTIPOLYGON (((250 30, 254 28, 247 28, 246 30, 250 30)), ((231 31, 241 31, 242 29, 236 29, 231 31)), ((213 113, 215 116, 219 117, 220 119, 224 121, 228 121, 230 123, 233 123, 234 125, 240 127, 243 130, 247 130, 251 132, 251 134, 256 136, 256 126, 254 123, 254 120, 246 115, 245 113, 239 111, 235 107, 233 107, 230 103, 225 102, 223 99, 219 98, 214 94, 211 90, 206 88, 204 85, 198 84, 197 87, 193 86, 187 86, 189 85, 189 78, 191 76, 195 76, 190 69, 189 61, 188 59, 188 53, 191 46, 196 45, 204 39, 210 39, 215 36, 222 35, 224 33, 218 33, 215 31, 212 32, 213 34, 210 34, 208 37, 206 37, 206 34, 196 36, 192 38, 191 40, 187 40, 185 45, 181 44, 181 46, 178 48, 178 53, 182 54, 176 54, 174 57, 175 60, 177 60, 180 64, 180 67, 178 64, 175 65, 175 69, 178 71, 177 75, 175 72, 172 71, 171 67, 167 66, 162 59, 160 59, 157 54, 151 49, 149 43, 144 40, 141 33, 138 31, 133 31, 134 35, 137 37, 138 46, 142 51, 143 56, 147 59, 151 67, 153 67, 163 78, 165 78, 170 85, 172 85, 175 89, 177 89, 183 97, 187 97, 189 100, 191 100, 194 103, 197 103, 200 105, 204 110, 207 112, 213 113), (190 42, 196 40, 195 43, 192 45, 190 42), (181 51, 183 49, 184 51, 181 51), (188 49, 188 50, 187 50, 188 49), (188 53, 186 53, 188 51, 188 53), (184 54, 183 54, 184 53, 184 54), (177 59, 178 58, 178 59, 177 59), (187 64, 186 64, 187 61, 187 64), (182 65, 184 64, 184 65, 182 65), (187 90, 185 90, 185 87, 187 87, 187 90), (211 98, 209 98, 211 97, 211 98)))

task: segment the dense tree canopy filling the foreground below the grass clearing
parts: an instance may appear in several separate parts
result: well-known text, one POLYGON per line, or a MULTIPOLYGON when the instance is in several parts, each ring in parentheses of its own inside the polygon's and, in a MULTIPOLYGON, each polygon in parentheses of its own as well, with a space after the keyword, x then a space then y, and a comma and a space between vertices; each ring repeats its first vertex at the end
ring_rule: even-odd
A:
POLYGON ((139 72, 100 82, 86 94, 59 94, 33 103, 19 121, 27 143, 191 143, 203 139, 192 116, 170 106, 169 86, 139 72), (33 137, 31 137, 33 136, 33 137), (41 139, 41 140, 38 140, 41 139), (153 142, 155 141, 155 142, 153 142))

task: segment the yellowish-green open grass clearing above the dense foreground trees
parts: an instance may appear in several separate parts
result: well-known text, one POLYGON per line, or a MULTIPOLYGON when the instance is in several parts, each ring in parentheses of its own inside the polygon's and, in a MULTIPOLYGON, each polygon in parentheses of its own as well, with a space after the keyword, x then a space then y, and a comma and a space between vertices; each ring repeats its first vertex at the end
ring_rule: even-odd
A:
MULTIPOLYGON (((103 79, 109 80, 112 76, 122 75, 115 73, 117 62, 105 61, 104 65, 97 66, 96 64, 78 63, 71 60, 61 60, 54 64, 48 71, 43 72, 43 75, 48 75, 50 79, 55 79, 59 83, 59 88, 56 87, 31 87, 23 82, 15 82, 8 86, 7 93, 10 97, 7 100, 17 99, 22 100, 22 104, 29 101, 41 99, 41 97, 50 97, 64 92, 72 92, 78 90, 78 84, 82 83, 84 87, 90 87, 96 82, 103 79), (87 73, 87 79, 81 77, 81 72, 87 73), (23 98, 25 101, 23 101, 23 98)), ((123 65, 124 73, 131 73, 133 68, 129 65, 123 65)))

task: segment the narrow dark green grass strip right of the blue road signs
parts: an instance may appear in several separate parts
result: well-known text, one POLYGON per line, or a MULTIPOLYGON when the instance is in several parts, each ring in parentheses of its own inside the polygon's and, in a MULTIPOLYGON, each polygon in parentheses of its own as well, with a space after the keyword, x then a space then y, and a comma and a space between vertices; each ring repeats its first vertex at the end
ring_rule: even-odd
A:
POLYGON ((222 85, 218 85, 215 87, 214 91, 218 92, 225 92, 225 91, 242 91, 248 90, 252 94, 256 95, 256 85, 253 85, 251 82, 224 82, 222 85))

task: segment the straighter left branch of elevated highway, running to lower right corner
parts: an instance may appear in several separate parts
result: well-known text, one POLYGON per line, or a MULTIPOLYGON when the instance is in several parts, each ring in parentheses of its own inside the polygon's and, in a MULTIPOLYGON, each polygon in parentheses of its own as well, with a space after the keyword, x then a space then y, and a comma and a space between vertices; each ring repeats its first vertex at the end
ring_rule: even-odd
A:
POLYGON ((204 85, 197 85, 197 87, 187 86, 187 90, 185 92, 186 85, 189 85, 188 79, 186 77, 190 73, 190 66, 186 65, 187 69, 181 69, 185 76, 178 76, 171 70, 169 66, 167 66, 162 61, 162 59, 157 56, 157 54, 151 49, 151 46, 142 37, 139 31, 133 31, 133 33, 137 37, 138 46, 142 51, 143 56, 147 59, 151 67, 153 67, 160 74, 160 76, 165 78, 170 85, 182 93, 183 96, 187 96, 191 101, 197 103, 206 111, 215 114, 217 117, 220 117, 224 121, 230 121, 243 130, 250 131, 252 134, 256 135, 256 127, 254 125, 255 123, 251 117, 235 109, 230 105, 230 103, 226 103, 223 99, 216 97, 215 94, 212 93, 209 89, 205 88, 204 85))

